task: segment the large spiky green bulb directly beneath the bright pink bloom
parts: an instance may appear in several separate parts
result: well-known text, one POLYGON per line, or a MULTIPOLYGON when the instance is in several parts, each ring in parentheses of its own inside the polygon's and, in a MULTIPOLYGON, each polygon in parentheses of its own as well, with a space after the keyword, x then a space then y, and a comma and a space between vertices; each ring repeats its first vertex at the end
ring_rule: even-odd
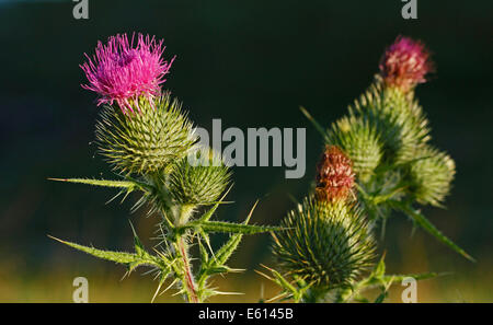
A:
POLYGON ((140 97, 134 112, 106 106, 96 123, 101 153, 119 173, 169 173, 194 144, 192 123, 170 93, 152 102, 140 97))

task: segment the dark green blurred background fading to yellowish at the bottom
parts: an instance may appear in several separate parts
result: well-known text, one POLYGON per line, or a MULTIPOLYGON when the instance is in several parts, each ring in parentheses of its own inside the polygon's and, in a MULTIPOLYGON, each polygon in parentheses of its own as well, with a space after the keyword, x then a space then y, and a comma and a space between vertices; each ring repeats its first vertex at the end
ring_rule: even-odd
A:
MULTIPOLYGON (((80 88, 84 53, 116 33, 164 38, 176 55, 164 86, 205 128, 306 127, 307 173, 285 179, 284 167, 234 167, 233 205, 218 218, 243 219, 261 199, 257 223, 277 224, 314 177, 322 140, 301 115, 324 125, 342 116, 369 85, 386 46, 399 34, 422 39, 437 73, 417 89, 434 143, 457 162, 447 209, 423 212, 477 258, 470 263, 403 216, 388 222, 379 249, 388 271, 448 271, 419 282, 420 302, 493 301, 492 72, 493 2, 419 0, 419 19, 403 20, 387 1, 104 1, 89 0, 89 20, 74 20, 71 1, 0 1, 0 302, 71 302, 72 280, 87 277, 90 302, 149 302, 157 282, 144 270, 98 260, 47 234, 111 249, 133 247, 128 220, 141 239, 156 220, 137 197, 105 205, 114 191, 48 177, 113 177, 95 155, 95 94, 80 88)), ((156 217, 154 217, 156 218, 156 217)), ((218 237, 218 244, 222 237, 218 237)), ((255 302, 277 289, 253 270, 273 265, 270 236, 246 237, 230 265, 245 275, 218 278, 244 295, 214 302, 255 302)), ((146 241, 148 246, 152 242, 146 241)), ((395 286, 390 301, 400 301, 395 286)), ((180 301, 169 293, 159 302, 180 301)))

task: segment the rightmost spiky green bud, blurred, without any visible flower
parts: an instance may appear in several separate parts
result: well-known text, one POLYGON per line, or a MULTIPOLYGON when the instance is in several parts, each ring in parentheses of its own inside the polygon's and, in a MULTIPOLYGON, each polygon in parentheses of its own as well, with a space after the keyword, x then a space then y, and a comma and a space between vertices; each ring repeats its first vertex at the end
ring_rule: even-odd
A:
POLYGON ((450 191, 455 173, 454 160, 427 146, 410 164, 411 193, 420 204, 439 207, 450 191))

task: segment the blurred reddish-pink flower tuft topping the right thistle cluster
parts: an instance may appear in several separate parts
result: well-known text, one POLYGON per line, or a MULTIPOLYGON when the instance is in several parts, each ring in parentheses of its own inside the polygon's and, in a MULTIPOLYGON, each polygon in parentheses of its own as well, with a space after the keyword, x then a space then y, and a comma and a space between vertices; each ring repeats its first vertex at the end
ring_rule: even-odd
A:
POLYGON ((429 53, 423 43, 398 36, 380 59, 380 74, 388 86, 404 92, 426 82, 426 73, 433 71, 429 53))

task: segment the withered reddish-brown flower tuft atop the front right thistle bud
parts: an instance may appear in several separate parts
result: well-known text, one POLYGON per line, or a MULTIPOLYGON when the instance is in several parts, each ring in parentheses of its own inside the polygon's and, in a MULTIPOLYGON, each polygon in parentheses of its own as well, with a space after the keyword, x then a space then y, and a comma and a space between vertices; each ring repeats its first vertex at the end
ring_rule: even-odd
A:
POLYGON ((317 164, 317 197, 323 201, 344 200, 354 186, 353 162, 335 146, 326 146, 317 164))

